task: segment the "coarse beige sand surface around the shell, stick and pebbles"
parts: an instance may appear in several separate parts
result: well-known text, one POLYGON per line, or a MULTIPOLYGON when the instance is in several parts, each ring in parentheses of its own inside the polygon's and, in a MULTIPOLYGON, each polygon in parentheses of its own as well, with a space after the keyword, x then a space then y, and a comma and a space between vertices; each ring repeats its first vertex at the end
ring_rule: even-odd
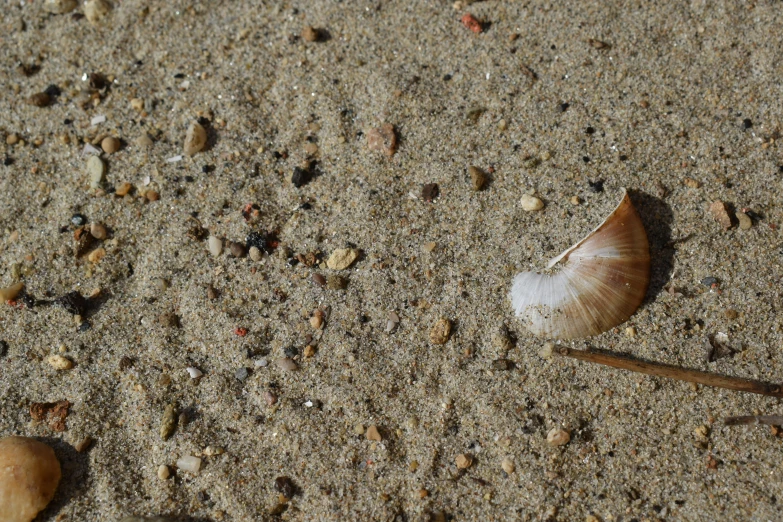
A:
POLYGON ((627 187, 647 299, 568 346, 780 380, 777 5, 123 0, 94 24, 42 6, 0 15, 0 286, 100 293, 82 326, 0 308, 0 436, 62 462, 40 520, 780 517, 780 438, 722 424, 778 400, 544 359, 507 297, 627 187), (205 150, 169 161, 199 119, 205 150), (391 156, 367 143, 386 123, 391 156), (106 135, 121 147, 91 189, 84 146, 106 135), (724 230, 716 200, 752 228, 724 230), (87 252, 103 254, 74 256, 75 213, 105 224, 87 252), (271 254, 232 257, 252 231, 271 254), (342 248, 360 251, 349 268, 320 264, 342 248), (30 415, 63 400, 64 431, 30 415), (170 404, 184 416, 163 440, 170 404), (570 441, 548 445, 554 428, 570 441), (176 469, 188 455, 197 473, 176 469))

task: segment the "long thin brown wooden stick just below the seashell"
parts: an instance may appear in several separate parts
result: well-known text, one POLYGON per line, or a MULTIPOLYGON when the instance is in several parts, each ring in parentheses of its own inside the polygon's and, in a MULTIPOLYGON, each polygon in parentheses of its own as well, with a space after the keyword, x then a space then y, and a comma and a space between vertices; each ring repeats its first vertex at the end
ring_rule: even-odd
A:
POLYGON ((707 386, 714 386, 716 388, 726 388, 729 390, 758 393, 759 395, 783 398, 783 386, 779 384, 752 381, 750 379, 742 379, 740 377, 726 377, 725 375, 717 375, 699 370, 690 370, 688 368, 681 368, 671 364, 641 361, 626 355, 613 355, 608 353, 591 352, 587 350, 572 350, 571 348, 566 348, 564 346, 555 348, 553 353, 557 353, 558 355, 563 355, 565 357, 571 357, 573 359, 579 359, 580 361, 603 364, 606 366, 612 366, 614 368, 620 368, 623 370, 630 370, 632 372, 644 373, 647 375, 667 377, 669 379, 695 382, 698 384, 705 384, 707 386))

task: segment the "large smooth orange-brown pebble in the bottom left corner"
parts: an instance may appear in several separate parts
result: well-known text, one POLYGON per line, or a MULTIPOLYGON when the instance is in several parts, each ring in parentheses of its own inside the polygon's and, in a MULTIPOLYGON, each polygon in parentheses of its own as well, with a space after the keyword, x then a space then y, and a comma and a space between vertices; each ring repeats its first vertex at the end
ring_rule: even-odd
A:
POLYGON ((0 520, 30 522, 60 483, 54 450, 27 437, 0 439, 0 520))

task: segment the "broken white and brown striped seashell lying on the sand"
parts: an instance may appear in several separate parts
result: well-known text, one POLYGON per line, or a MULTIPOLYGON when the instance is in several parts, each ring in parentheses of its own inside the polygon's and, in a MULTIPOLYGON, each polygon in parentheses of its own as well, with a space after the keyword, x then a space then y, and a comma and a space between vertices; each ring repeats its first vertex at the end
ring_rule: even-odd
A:
POLYGON ((625 322, 650 282, 650 247, 636 209, 623 198, 584 239, 552 259, 549 274, 521 272, 509 297, 525 327, 540 337, 578 339, 625 322))

